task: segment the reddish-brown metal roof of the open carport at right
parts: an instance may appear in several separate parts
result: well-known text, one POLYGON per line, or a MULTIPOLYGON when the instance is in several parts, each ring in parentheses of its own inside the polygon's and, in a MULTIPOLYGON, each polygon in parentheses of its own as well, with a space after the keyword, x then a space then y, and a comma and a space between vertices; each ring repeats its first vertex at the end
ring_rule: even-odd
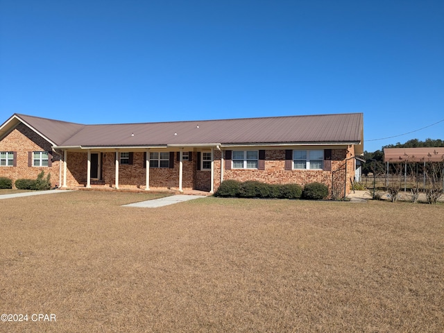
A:
POLYGON ((384 162, 443 162, 444 147, 384 148, 384 162))

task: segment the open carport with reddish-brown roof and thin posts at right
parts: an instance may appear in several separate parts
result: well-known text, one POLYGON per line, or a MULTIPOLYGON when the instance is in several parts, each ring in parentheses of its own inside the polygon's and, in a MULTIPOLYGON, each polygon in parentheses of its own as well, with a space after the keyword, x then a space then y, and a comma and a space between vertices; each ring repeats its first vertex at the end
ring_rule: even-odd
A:
MULTIPOLYGON (((444 147, 421 147, 421 148, 384 148, 384 162, 386 162, 386 175, 388 176, 390 164, 404 164, 404 191, 407 182, 407 164, 422 165, 423 188, 426 185, 427 164, 434 166, 438 171, 434 176, 439 176, 444 188, 444 147)), ((432 181, 436 182, 437 179, 432 181)))

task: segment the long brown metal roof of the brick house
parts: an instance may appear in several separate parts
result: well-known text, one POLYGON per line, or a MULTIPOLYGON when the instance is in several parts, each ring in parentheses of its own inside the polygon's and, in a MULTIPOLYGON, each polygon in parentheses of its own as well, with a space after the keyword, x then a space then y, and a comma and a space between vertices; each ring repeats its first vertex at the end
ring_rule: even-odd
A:
POLYGON ((56 146, 359 144, 363 114, 83 125, 16 114, 56 146))

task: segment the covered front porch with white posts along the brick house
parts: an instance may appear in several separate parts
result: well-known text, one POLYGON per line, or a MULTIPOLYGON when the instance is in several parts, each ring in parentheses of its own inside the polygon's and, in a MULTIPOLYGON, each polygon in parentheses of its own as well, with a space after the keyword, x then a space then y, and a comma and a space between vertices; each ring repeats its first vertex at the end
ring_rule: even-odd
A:
MULTIPOLYGON (((60 167, 62 188, 126 191, 214 192, 214 150, 202 168, 204 151, 160 149, 65 150, 60 167)), ((205 155, 206 157, 206 155, 205 155)))

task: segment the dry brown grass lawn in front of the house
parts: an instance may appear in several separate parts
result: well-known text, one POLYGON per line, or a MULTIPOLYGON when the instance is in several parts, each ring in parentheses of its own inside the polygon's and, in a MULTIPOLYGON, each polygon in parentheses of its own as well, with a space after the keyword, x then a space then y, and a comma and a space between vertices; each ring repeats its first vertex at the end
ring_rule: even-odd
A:
POLYGON ((0 200, 2 332, 443 332, 444 205, 0 200))

